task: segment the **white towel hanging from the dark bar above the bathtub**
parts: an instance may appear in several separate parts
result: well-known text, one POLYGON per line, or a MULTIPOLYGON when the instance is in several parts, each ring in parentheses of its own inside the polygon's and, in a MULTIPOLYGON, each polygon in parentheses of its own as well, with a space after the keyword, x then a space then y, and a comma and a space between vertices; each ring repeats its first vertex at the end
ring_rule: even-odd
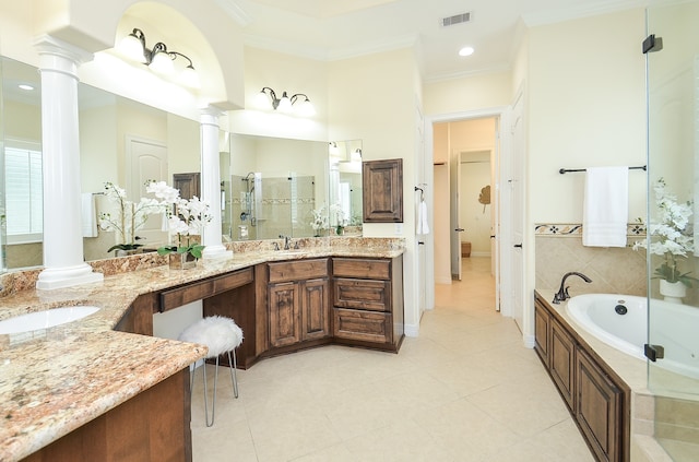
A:
POLYGON ((588 167, 582 245, 626 247, 629 167, 588 167))

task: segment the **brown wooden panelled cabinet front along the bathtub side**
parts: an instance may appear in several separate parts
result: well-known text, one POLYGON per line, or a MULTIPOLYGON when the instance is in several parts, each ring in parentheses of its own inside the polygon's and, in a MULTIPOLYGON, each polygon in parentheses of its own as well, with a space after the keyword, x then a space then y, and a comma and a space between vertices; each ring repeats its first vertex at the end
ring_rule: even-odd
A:
POLYGON ((628 462, 630 390, 538 294, 534 350, 597 461, 628 462))

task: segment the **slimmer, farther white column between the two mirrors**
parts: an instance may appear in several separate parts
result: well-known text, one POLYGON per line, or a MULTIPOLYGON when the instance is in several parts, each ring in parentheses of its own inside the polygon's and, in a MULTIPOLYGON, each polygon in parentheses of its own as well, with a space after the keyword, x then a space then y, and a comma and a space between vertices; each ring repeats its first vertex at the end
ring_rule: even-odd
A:
POLYGON ((204 228, 202 236, 206 259, 233 258, 222 241, 221 227, 221 159, 218 153, 218 117, 221 110, 206 107, 201 111, 201 196, 209 202, 213 220, 204 228))

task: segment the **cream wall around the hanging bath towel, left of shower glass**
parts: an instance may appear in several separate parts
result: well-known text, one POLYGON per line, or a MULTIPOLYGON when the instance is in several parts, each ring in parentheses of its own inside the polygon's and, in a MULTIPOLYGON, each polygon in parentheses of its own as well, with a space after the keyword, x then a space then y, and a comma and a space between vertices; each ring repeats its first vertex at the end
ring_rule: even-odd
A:
MULTIPOLYGON (((645 165, 643 38, 642 9, 531 29, 530 227, 582 222, 584 175, 559 168, 645 165)), ((644 216, 643 173, 630 173, 629 198, 631 223, 644 216)))

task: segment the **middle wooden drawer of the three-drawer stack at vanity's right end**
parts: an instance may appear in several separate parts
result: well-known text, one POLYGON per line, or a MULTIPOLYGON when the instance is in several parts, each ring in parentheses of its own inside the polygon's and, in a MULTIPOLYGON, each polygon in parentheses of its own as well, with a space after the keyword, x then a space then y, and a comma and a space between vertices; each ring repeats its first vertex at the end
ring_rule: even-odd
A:
POLYGON ((334 280, 333 306, 370 311, 391 310, 391 283, 389 281, 334 280))

